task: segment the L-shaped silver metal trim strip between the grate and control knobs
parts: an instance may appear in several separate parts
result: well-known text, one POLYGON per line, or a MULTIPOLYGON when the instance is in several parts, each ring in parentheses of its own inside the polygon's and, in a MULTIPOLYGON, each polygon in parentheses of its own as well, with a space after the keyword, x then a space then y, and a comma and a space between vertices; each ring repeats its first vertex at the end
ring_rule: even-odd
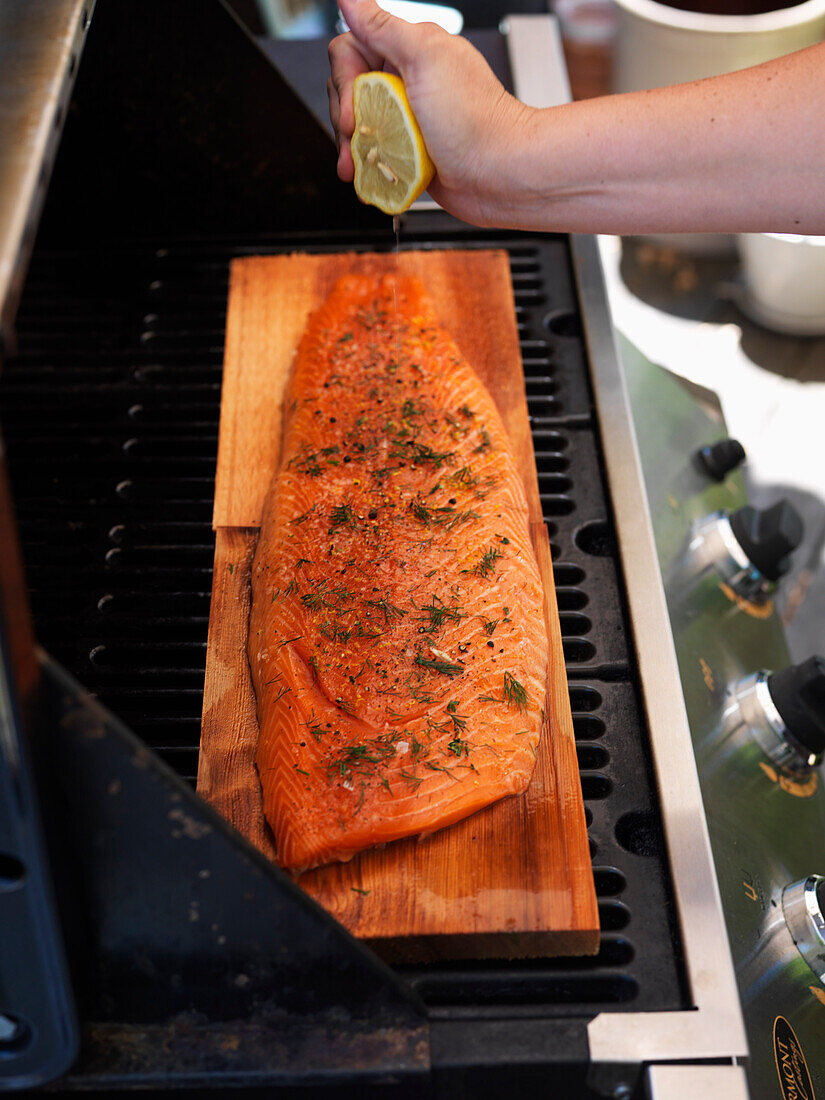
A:
POLYGON ((738 1058, 748 1053, 630 404, 593 237, 571 237, 573 271, 653 769, 685 956, 691 1012, 602 1012, 594 1063, 738 1058))

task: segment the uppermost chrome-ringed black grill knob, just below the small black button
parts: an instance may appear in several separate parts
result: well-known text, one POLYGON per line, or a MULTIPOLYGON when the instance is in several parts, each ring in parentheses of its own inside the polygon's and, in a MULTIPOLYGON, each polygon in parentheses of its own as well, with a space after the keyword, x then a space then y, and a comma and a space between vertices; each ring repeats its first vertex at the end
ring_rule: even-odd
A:
POLYGON ((765 603, 788 571, 789 554, 802 535, 802 520, 788 501, 763 509, 746 505, 734 513, 714 512, 693 527, 675 583, 695 583, 714 572, 735 595, 765 603))

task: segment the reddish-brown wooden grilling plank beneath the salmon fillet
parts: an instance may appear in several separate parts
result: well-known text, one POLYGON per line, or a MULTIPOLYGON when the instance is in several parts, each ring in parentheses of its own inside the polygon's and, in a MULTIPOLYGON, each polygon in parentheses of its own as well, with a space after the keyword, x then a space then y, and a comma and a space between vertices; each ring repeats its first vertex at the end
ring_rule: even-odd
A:
POLYGON ((275 857, 254 768, 257 722, 246 635, 256 528, 279 448, 279 398, 307 317, 336 279, 349 271, 395 270, 424 280, 440 322, 487 385, 513 441, 544 584, 550 728, 526 794, 425 839, 399 840, 350 864, 309 871, 298 882, 388 958, 593 954, 598 913, 504 252, 292 255, 233 263, 198 791, 275 857))

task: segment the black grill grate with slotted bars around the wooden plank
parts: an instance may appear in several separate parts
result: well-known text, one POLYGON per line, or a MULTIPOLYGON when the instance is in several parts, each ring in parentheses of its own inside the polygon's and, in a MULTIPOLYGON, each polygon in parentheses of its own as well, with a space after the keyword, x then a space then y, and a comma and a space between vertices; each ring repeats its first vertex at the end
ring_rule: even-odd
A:
MULTIPOLYGON (((402 972, 435 1016, 682 1008, 568 243, 443 230, 446 221, 406 237, 510 257, 603 934, 595 958, 402 972)), ((228 264, 296 248, 387 241, 328 234, 35 256, 20 352, 0 384, 38 638, 193 783, 228 264)))

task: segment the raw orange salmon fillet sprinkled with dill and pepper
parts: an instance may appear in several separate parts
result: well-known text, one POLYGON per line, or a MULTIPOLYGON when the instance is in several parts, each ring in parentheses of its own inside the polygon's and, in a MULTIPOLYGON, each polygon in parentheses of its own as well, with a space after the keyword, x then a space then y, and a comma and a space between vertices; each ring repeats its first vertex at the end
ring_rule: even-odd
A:
POLYGON ((548 639, 527 502, 418 279, 344 276, 308 321, 249 658, 264 812, 295 872, 530 781, 548 639))

